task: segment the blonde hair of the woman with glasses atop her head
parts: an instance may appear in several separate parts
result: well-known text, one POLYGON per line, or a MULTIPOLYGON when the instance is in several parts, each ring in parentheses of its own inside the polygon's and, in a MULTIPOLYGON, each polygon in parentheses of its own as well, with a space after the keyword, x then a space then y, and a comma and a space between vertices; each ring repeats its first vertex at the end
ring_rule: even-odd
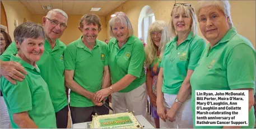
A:
POLYGON ((173 24, 173 15, 175 13, 180 13, 180 12, 184 12, 189 18, 192 19, 192 26, 190 27, 190 31, 192 31, 192 36, 197 34, 197 20, 196 20, 196 14, 194 13, 194 9, 190 6, 183 6, 183 5, 178 5, 178 6, 174 6, 173 10, 171 11, 171 19, 169 22, 169 29, 170 29, 170 33, 171 33, 171 37, 176 37, 177 33, 176 30, 174 28, 174 24, 173 24))

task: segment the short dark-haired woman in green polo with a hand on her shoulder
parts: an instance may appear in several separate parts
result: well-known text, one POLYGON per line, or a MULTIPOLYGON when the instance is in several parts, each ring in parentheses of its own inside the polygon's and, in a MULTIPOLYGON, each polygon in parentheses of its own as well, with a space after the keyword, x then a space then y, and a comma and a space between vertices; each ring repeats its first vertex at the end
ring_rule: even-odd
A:
POLYGON ((10 61, 20 63, 27 75, 16 85, 1 78, 11 127, 57 128, 48 86, 36 65, 44 52, 44 29, 34 22, 25 22, 15 28, 13 36, 18 52, 11 55, 10 61))

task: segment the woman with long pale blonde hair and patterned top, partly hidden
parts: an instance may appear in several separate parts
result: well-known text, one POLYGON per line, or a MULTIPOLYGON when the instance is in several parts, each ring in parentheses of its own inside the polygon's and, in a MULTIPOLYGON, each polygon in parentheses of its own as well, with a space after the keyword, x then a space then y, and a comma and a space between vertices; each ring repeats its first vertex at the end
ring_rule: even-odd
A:
POLYGON ((160 70, 160 63, 164 47, 170 41, 170 34, 168 32, 165 21, 155 21, 148 28, 146 52, 146 85, 148 96, 150 97, 150 109, 152 117, 155 120, 156 128, 160 128, 159 116, 156 110, 156 82, 157 75, 160 70))

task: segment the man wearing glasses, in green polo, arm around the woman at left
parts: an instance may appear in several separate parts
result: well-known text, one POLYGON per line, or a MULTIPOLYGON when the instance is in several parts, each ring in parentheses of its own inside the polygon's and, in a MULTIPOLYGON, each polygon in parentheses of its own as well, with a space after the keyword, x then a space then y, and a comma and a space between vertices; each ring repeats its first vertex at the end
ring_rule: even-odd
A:
MULTIPOLYGON (((63 53, 66 45, 59 41, 60 36, 62 36, 67 27, 67 19, 67 14, 60 9, 52 9, 43 17, 43 28, 46 36, 44 43, 45 50, 40 60, 36 62, 41 76, 48 85, 58 128, 67 128, 68 123, 68 100, 66 87, 64 86, 63 62, 63 53)), ((13 53, 17 53, 15 42, 1 55, 1 66, 3 64, 4 67, 4 61, 10 61, 10 56, 13 53)), ((8 68, 10 67, 6 67, 6 69, 8 68)), ((8 75, 3 75, 2 72, 1 75, 5 78, 10 78, 8 75)), ((11 73, 11 75, 13 74, 11 73)), ((12 76, 12 78, 16 79, 16 76, 12 76)))

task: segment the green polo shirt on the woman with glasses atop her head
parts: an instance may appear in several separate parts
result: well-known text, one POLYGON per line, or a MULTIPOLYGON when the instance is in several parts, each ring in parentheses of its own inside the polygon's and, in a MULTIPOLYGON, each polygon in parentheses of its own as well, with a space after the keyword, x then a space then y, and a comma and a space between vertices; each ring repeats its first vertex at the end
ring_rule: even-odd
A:
POLYGON ((194 70, 206 47, 203 38, 197 35, 193 36, 192 32, 179 46, 177 46, 177 39, 178 36, 166 44, 160 64, 164 72, 162 92, 170 95, 178 95, 181 84, 187 76, 187 71, 194 70))

